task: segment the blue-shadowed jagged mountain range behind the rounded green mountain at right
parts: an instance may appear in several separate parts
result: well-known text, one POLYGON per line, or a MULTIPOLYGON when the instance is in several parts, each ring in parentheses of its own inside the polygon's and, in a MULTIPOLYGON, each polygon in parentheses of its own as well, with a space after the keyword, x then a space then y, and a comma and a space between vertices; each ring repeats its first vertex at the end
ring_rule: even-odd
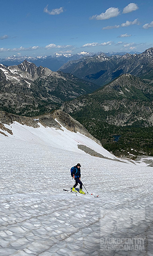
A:
POLYGON ((122 74, 132 74, 140 78, 153 79, 153 48, 141 54, 113 55, 104 53, 86 59, 71 60, 61 68, 79 78, 104 86, 122 74))

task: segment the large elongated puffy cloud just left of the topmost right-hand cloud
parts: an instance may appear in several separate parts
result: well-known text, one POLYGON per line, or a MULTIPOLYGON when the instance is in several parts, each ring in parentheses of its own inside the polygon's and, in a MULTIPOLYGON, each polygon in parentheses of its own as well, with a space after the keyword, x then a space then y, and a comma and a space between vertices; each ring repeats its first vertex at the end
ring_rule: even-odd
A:
POLYGON ((99 15, 93 15, 90 19, 109 19, 119 15, 119 9, 111 7, 99 15))

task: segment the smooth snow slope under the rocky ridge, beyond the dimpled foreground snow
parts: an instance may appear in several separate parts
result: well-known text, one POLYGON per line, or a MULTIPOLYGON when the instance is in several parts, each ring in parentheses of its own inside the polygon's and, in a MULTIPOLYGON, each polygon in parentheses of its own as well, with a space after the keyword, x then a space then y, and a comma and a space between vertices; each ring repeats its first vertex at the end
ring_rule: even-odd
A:
MULTIPOLYGON (((11 126, 7 124, 5 124, 5 126, 8 129, 11 129, 13 132, 13 135, 5 132, 5 134, 10 138, 16 138, 29 142, 33 141, 42 145, 48 145, 72 152, 81 152, 86 154, 78 148, 78 144, 83 144, 92 148, 92 150, 98 152, 104 157, 117 159, 114 155, 105 150, 104 147, 98 145, 95 141, 89 139, 79 132, 70 132, 62 125, 62 130, 55 129, 54 127, 44 127, 41 123, 39 123, 39 128, 36 129, 32 126, 22 125, 16 121, 13 122, 11 126)), ((4 132, 1 129, 0 131, 4 132)))

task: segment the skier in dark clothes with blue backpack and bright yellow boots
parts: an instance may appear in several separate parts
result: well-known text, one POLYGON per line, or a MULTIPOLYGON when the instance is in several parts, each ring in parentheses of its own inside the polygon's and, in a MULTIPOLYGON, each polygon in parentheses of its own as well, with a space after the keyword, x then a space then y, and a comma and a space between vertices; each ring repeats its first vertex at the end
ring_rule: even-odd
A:
POLYGON ((74 167, 71 168, 71 176, 75 180, 75 184, 72 187, 72 191, 77 192, 75 187, 77 187, 78 183, 79 183, 80 184, 79 193, 85 194, 85 192, 82 190, 82 185, 83 184, 81 182, 81 169, 80 169, 80 167, 81 167, 81 165, 80 165, 80 163, 78 163, 77 165, 75 165, 74 167))

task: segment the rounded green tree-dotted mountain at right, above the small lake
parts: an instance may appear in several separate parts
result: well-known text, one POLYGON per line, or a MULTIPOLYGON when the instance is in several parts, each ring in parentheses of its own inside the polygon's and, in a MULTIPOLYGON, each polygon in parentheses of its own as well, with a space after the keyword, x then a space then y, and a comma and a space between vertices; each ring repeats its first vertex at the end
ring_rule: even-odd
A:
POLYGON ((63 103, 62 110, 118 126, 139 121, 144 126, 153 126, 153 87, 138 77, 124 74, 92 94, 63 103))

